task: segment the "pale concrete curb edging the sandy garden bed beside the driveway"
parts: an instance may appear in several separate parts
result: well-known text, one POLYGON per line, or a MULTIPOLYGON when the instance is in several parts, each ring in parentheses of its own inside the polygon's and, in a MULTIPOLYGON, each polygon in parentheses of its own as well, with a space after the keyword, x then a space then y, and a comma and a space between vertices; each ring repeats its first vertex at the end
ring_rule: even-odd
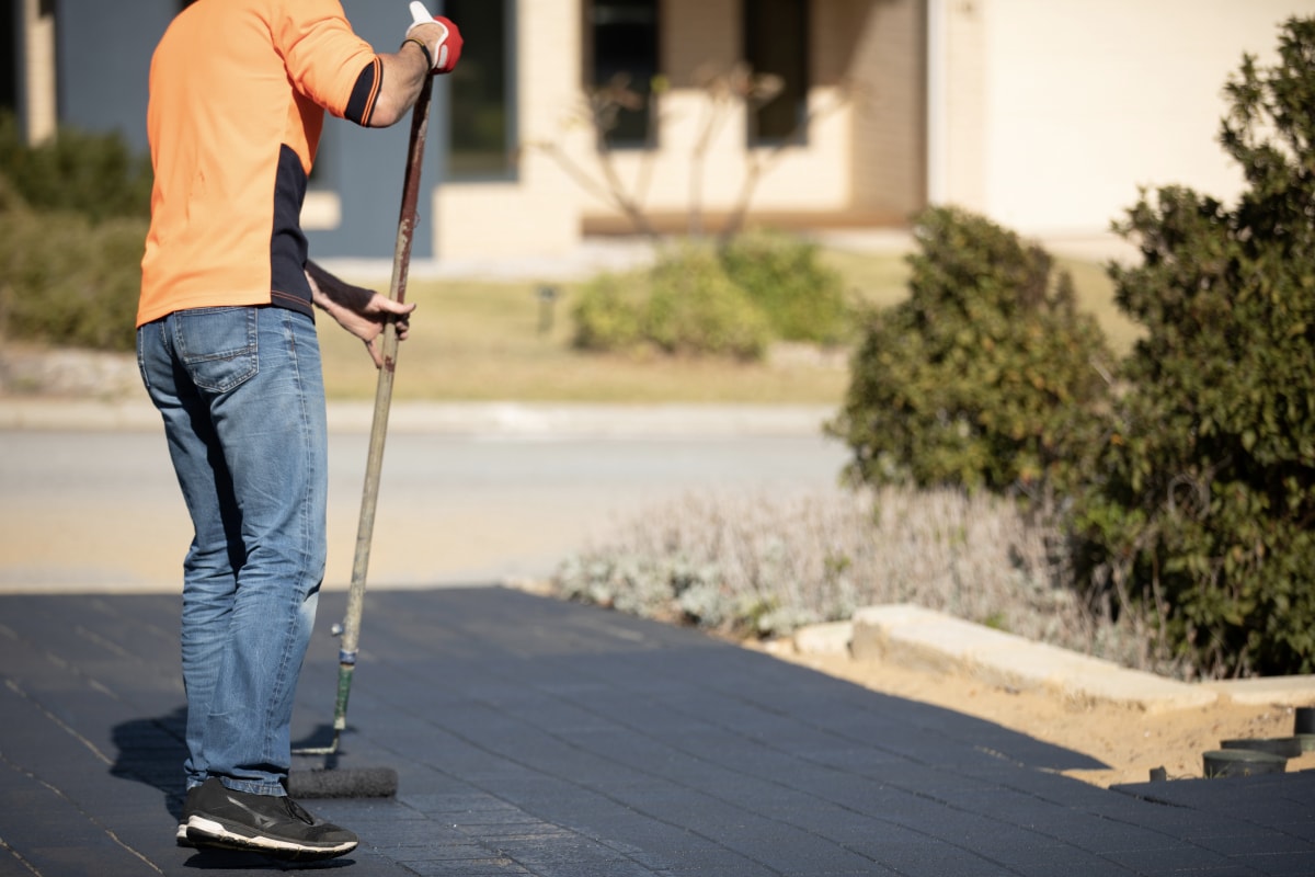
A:
POLYGON ((802 628, 794 634, 794 648, 963 673, 997 688, 1049 692, 1145 713, 1208 706, 1220 699, 1277 706, 1315 703, 1315 676, 1180 682, 909 604, 868 606, 852 621, 802 628))

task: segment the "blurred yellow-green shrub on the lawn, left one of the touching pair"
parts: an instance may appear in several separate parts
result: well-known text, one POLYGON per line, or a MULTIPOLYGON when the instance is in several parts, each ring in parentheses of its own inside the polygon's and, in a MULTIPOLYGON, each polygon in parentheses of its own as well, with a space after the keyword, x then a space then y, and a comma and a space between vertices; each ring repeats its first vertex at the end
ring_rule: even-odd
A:
POLYGON ((573 317, 575 344, 583 350, 648 346, 757 359, 771 341, 765 317, 726 276, 715 251, 696 245, 664 252, 644 273, 596 277, 581 291, 573 317))

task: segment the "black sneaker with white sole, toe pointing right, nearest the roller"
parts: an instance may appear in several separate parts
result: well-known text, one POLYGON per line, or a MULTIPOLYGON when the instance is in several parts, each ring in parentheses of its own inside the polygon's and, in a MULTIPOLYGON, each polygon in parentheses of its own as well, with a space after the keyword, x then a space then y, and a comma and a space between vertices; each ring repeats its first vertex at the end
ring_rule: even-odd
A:
POLYGON ((356 848, 356 835, 316 819, 292 798, 234 792, 212 777, 192 803, 187 839, 197 847, 300 861, 333 859, 356 848))

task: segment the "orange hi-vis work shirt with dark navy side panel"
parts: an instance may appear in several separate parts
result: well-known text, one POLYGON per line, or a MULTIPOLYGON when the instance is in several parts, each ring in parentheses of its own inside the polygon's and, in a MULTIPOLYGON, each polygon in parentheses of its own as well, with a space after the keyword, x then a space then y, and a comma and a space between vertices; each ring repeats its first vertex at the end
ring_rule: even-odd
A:
POLYGON ((310 313, 300 216, 325 110, 367 125, 381 78, 338 0, 199 0, 174 18, 151 58, 138 326, 191 308, 310 313))

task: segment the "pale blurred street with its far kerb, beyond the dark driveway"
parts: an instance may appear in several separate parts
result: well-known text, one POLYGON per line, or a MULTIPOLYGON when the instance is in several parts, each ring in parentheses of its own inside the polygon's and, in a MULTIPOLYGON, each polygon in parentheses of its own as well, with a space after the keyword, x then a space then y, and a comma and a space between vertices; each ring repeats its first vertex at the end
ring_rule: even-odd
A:
MULTIPOLYGON (((834 490, 817 406, 393 406, 372 586, 543 579, 690 492, 834 490)), ((351 579, 372 408, 330 405, 326 588, 351 579)), ((149 401, 0 398, 0 592, 178 590, 191 522, 149 401)))

